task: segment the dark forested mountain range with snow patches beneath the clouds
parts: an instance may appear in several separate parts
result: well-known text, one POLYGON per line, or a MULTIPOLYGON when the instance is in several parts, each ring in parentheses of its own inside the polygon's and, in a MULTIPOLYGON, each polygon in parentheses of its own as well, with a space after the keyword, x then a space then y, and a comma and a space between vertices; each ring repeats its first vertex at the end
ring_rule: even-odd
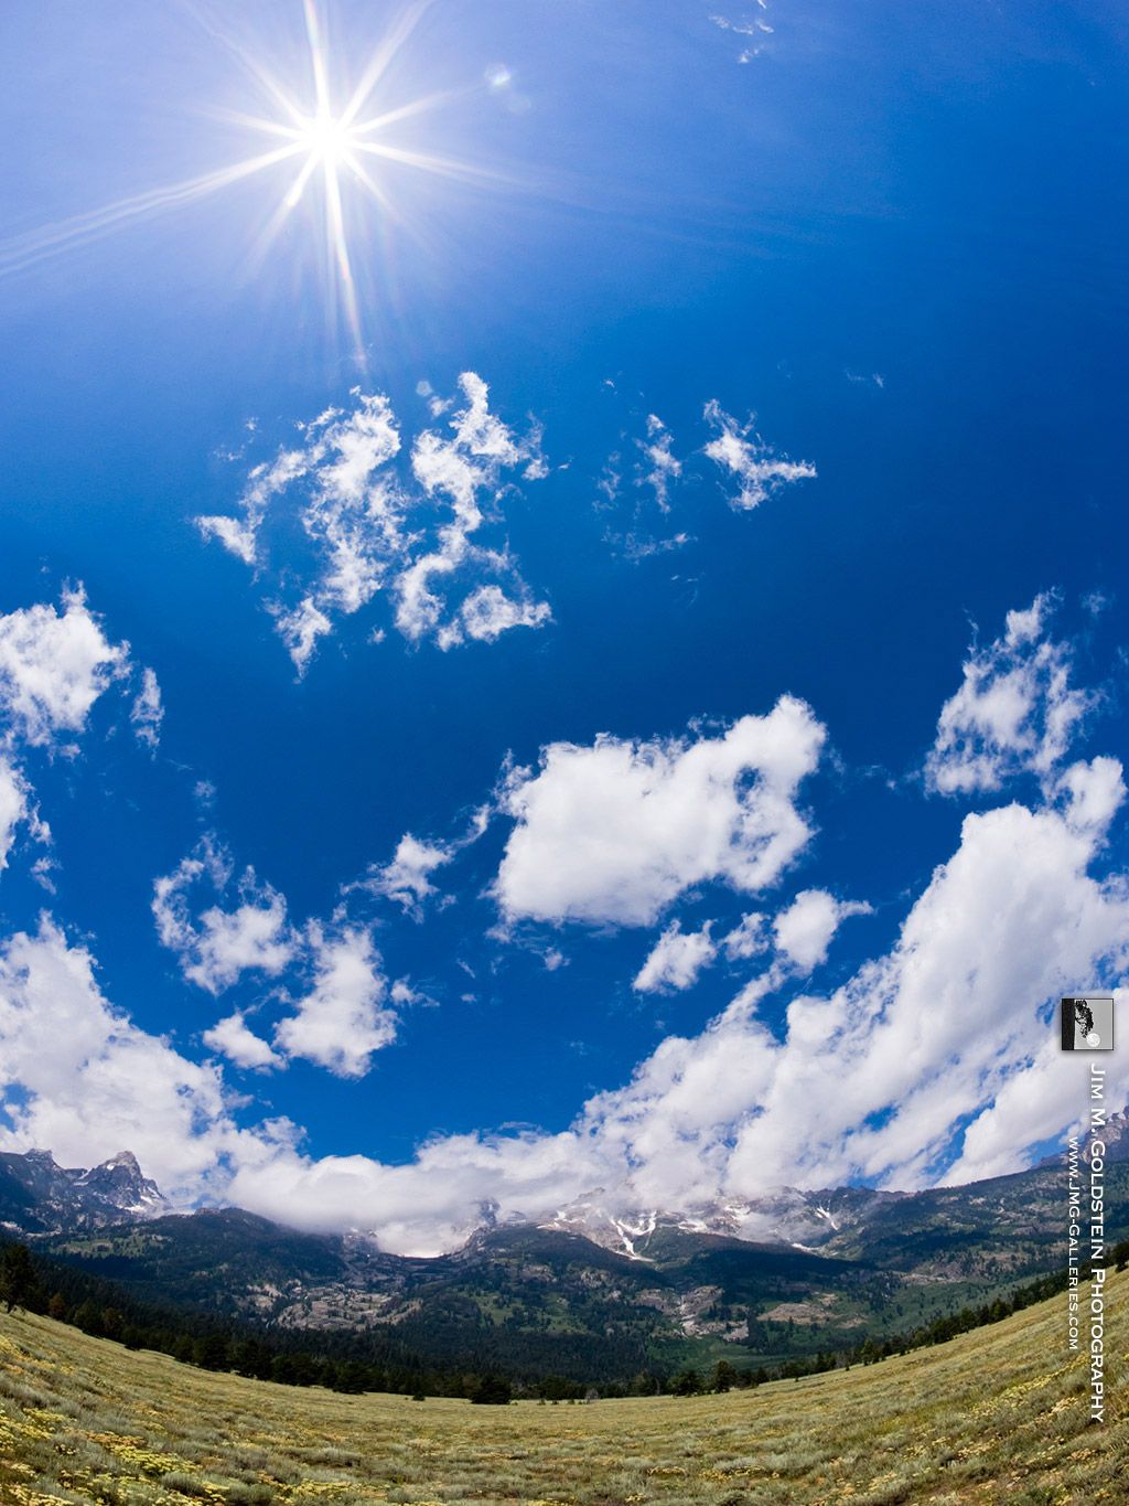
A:
MULTIPOLYGON (((1108 1236, 1129 1233, 1129 1117, 1106 1130, 1108 1236)), ((778 1188, 680 1212, 596 1191, 437 1258, 238 1208, 172 1212, 129 1152, 0 1155, 0 1226, 137 1300, 291 1330, 393 1333, 421 1358, 628 1375, 772 1363, 905 1333, 1066 1264, 1064 1160, 965 1187, 778 1188), (756 1232, 757 1238, 748 1233, 756 1232)))

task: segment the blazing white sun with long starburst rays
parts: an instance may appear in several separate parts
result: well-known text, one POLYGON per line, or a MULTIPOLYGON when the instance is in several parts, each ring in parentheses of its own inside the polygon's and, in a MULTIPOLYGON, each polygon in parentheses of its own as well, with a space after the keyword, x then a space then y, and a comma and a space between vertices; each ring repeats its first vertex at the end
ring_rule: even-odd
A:
POLYGON ((297 69, 303 75, 297 87, 275 77, 253 51, 223 35, 218 26, 209 24, 212 35, 218 35, 227 50, 238 57, 265 105, 265 113, 260 114, 233 110, 214 113, 245 131, 266 137, 271 143, 268 149, 199 178, 134 194, 71 220, 12 236, 0 242, 0 276, 21 271, 48 256, 98 239, 129 221, 179 208, 259 173, 292 164, 294 175, 259 238, 259 255, 266 253, 307 194, 316 193, 322 206, 327 276, 333 283, 328 291, 333 303, 345 315, 354 354, 363 360, 361 321, 354 282, 357 248, 349 244, 343 203, 346 184, 372 200, 385 221, 400 221, 402 217, 387 188, 370 170, 379 166, 379 160, 449 178, 498 179, 498 175, 468 163, 396 145, 390 134, 390 130, 406 117, 450 99, 450 93, 432 93, 394 108, 379 108, 381 83, 388 66, 431 3, 432 0, 415 0, 388 26, 358 81, 340 96, 334 93, 337 80, 330 66, 316 0, 301 0, 307 48, 303 65, 297 69))

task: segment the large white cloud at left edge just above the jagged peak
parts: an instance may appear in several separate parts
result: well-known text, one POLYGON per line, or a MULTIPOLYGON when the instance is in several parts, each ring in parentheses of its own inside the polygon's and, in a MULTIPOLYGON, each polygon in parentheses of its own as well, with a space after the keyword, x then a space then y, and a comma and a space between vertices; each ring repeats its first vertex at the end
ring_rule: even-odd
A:
POLYGON ((131 1148, 173 1199, 221 1191, 227 1158, 254 1166, 285 1123, 239 1130, 220 1072, 138 1030, 104 998, 93 958, 44 917, 0 946, 0 1146, 90 1166, 131 1148), (12 1090, 18 1092, 12 1092, 12 1090))

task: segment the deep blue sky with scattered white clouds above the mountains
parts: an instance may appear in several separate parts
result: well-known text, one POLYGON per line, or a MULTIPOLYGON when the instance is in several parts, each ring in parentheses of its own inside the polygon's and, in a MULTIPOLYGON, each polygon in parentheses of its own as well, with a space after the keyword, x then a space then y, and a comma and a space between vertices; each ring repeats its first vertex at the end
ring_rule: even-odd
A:
POLYGON ((313 98, 220 14, 0 23, 0 1139, 420 1250, 1024 1164, 1129 938, 1115 9, 325 8, 443 96, 355 315, 309 142, 178 188, 313 98))

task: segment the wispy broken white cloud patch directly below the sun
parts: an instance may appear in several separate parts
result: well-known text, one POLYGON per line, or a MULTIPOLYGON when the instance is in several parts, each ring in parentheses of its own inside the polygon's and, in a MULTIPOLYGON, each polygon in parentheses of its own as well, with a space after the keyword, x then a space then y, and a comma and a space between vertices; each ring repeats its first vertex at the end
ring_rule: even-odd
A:
POLYGON ((443 649, 492 643, 549 620, 548 604, 533 598, 509 551, 480 542, 501 521, 510 477, 548 473, 540 432, 515 435, 491 411, 489 389, 474 372, 459 376, 459 393, 461 405, 432 399, 432 417, 446 428, 415 435, 406 473, 397 468, 402 440, 387 396, 355 389, 352 410, 328 408, 301 429, 301 446, 250 473, 235 517, 197 518, 205 538, 263 569, 268 514, 277 498, 297 497, 313 559, 297 571, 291 562, 268 608, 300 675, 336 620, 381 592, 405 639, 443 649), (297 599, 286 593, 292 578, 297 599))

